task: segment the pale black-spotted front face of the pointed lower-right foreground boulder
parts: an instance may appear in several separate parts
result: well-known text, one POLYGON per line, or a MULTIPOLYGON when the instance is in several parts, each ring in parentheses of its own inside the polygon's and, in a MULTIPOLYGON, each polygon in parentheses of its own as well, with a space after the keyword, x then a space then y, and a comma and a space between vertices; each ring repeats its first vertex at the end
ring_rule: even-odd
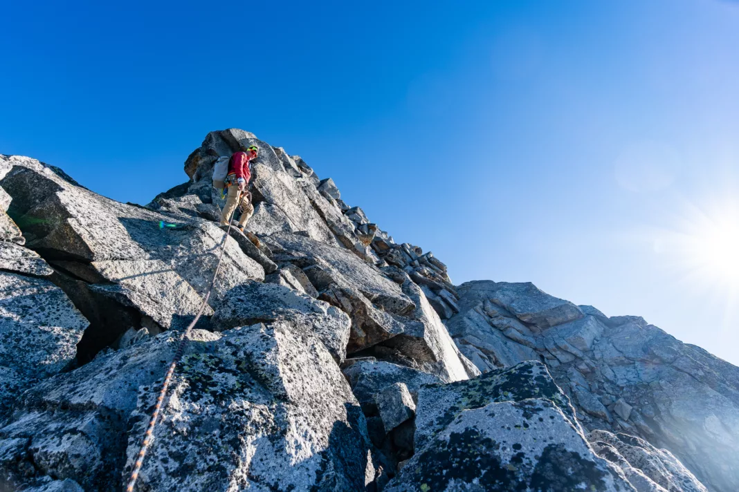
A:
MULTIPOLYGON (((418 448, 417 448, 418 449, 418 448)), ((457 414, 385 488, 405 491, 632 492, 562 409, 544 399, 457 414)))

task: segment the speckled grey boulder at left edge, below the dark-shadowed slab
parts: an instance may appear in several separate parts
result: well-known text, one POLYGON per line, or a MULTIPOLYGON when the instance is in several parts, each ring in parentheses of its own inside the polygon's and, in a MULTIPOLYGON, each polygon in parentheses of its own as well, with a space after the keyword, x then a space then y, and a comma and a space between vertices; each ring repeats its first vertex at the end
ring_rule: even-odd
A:
POLYGON ((0 421, 21 392, 72 363, 88 324, 48 280, 0 272, 0 421))

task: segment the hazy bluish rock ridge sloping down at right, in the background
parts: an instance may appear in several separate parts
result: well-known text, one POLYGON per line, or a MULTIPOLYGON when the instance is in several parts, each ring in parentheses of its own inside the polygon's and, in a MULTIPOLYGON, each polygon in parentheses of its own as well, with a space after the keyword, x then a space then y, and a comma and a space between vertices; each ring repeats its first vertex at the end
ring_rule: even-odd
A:
POLYGON ((545 361, 585 429, 639 437, 709 490, 737 490, 737 367, 638 316, 607 318, 531 284, 470 282, 457 292, 449 333, 480 370, 545 361))

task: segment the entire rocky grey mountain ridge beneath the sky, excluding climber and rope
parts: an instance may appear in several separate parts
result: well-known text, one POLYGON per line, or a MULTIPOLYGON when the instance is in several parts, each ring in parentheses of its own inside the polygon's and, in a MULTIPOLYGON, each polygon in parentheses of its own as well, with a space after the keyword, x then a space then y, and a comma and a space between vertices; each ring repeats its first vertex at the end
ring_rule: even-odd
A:
POLYGON ((532 284, 455 286, 299 156, 211 132, 146 207, 0 156, 0 490, 739 490, 739 369, 532 284), (245 235, 219 156, 258 145, 245 235))

